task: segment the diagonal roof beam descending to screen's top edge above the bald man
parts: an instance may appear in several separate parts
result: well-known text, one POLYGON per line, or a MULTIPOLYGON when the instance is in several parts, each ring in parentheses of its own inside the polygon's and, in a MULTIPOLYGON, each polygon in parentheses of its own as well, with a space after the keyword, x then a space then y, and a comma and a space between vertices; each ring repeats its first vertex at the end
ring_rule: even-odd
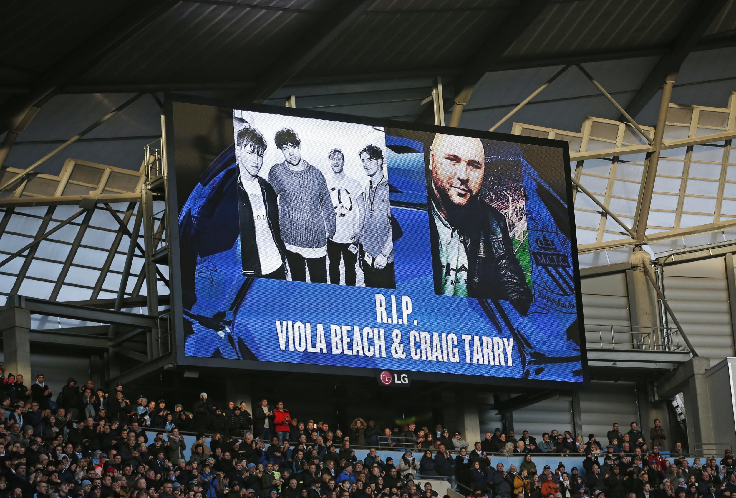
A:
POLYGON ((455 83, 455 107, 450 126, 458 127, 463 108, 473 94, 473 88, 495 63, 506 53, 523 32, 539 17, 548 1, 522 0, 509 12, 497 27, 489 29, 490 35, 464 64, 463 74, 455 83))

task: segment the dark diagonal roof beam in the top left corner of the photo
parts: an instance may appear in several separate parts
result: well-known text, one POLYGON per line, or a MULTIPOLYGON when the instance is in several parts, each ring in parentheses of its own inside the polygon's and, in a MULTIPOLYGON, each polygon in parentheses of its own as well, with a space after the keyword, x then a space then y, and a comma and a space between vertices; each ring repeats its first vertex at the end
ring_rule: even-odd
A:
POLYGON ((30 83, 27 94, 0 105, 0 133, 12 130, 15 123, 21 122, 33 107, 48 102, 61 86, 110 55, 175 4, 177 2, 174 0, 138 0, 114 15, 112 21, 100 27, 67 55, 60 57, 43 74, 38 74, 36 80, 30 83))

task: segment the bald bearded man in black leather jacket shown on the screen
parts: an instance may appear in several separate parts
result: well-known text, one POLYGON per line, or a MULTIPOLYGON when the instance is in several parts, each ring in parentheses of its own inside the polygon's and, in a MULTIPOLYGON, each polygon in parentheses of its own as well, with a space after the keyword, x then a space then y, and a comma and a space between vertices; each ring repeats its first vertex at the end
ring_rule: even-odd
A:
POLYGON ((430 147, 434 292, 510 301, 525 315, 531 291, 514 254, 506 218, 478 199, 485 157, 479 138, 437 134, 430 147))

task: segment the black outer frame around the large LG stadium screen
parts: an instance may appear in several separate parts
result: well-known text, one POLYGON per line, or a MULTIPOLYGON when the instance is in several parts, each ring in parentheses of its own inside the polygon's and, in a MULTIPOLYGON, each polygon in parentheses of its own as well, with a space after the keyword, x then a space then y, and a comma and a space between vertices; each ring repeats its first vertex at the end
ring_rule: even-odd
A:
POLYGON ((273 372, 284 372, 284 373, 302 373, 302 374, 320 374, 324 376, 356 376, 356 377, 369 377, 375 376, 375 369, 364 368, 364 367, 343 367, 343 366, 328 366, 328 365, 314 365, 314 364, 302 364, 302 363, 286 363, 286 362, 267 362, 267 361, 255 361, 255 360, 231 360, 231 359, 220 359, 220 358, 205 358, 205 357, 191 357, 187 356, 184 351, 184 337, 183 337, 183 309, 181 309, 181 264, 180 264, 180 253, 179 253, 179 209, 177 202, 177 168, 174 155, 174 113, 173 105, 174 102, 180 102, 183 104, 194 104, 194 105, 207 105, 216 108, 227 108, 227 109, 238 109, 242 111, 252 111, 256 113, 269 113, 269 114, 280 114, 283 116, 294 116, 302 118, 312 119, 328 119, 336 122, 346 122, 354 124, 365 124, 368 126, 383 127, 383 128, 403 128, 406 130, 414 130, 419 132, 428 133, 444 133, 447 135, 456 136, 470 136, 473 138, 481 138, 486 140, 496 141, 507 141, 516 144, 529 144, 539 145, 543 147, 554 147, 562 150, 563 169, 565 174, 565 194, 568 206, 568 218, 570 223, 570 244, 572 245, 572 258, 573 258, 573 277, 575 282, 576 290, 576 306, 578 315, 578 343, 580 345, 580 358, 581 358, 581 371, 582 381, 581 382, 565 382, 565 381, 554 381, 554 380, 539 380, 539 379, 518 379, 511 377, 499 377, 499 376, 475 376, 467 374, 450 374, 449 378, 446 374, 432 373, 432 372, 420 372, 410 371, 412 380, 429 381, 429 382, 453 382, 457 384, 469 384, 469 385, 498 385, 508 387, 529 387, 529 388, 558 388, 566 390, 578 390, 587 388, 590 382, 589 366, 587 360, 587 348, 585 341, 585 326, 583 320, 583 303, 582 303, 582 290, 580 284, 580 269, 578 267, 578 252, 576 250, 578 246, 576 228, 575 228, 575 215, 574 215, 574 199, 572 189, 572 179, 570 172, 570 150, 567 141, 564 140, 552 140, 550 138, 537 138, 531 136, 522 135, 511 135, 508 133, 488 132, 481 130, 470 130, 467 128, 458 127, 442 127, 434 124, 417 124, 403 121, 394 121, 390 119, 378 119, 369 118, 364 116, 352 116, 348 114, 329 113, 323 111, 311 111, 309 109, 299 108, 287 108, 278 107, 275 105, 260 105, 252 102, 238 102, 237 99, 224 100, 214 99, 210 97, 195 97, 185 94, 165 94, 164 100, 164 115, 166 129, 164 130, 164 143, 166 147, 164 154, 166 155, 167 164, 167 202, 175 203, 172 209, 171 206, 166 206, 167 222, 169 228, 169 246, 170 246, 170 263, 171 263, 171 274, 169 276, 169 292, 171 296, 171 309, 169 312, 169 320, 173 320, 174 325, 174 365, 183 365, 191 367, 221 367, 221 368, 235 368, 239 370, 258 370, 258 371, 273 371, 273 372), (175 228, 175 229, 174 229, 175 228))

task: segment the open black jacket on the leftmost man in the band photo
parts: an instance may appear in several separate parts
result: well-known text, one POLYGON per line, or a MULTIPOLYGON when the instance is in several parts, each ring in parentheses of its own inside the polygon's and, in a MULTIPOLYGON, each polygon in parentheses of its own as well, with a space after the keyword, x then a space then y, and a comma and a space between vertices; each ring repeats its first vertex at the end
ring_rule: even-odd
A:
MULTIPOLYGON (((250 197, 245 192, 236 173, 236 188, 238 189, 238 220, 240 223, 240 253, 243 263, 243 276, 260 277, 261 260, 258 258, 258 245, 255 242, 255 222, 253 221, 253 211, 250 207, 250 197)), ((226 173, 227 175, 227 173, 226 173)), ((271 183, 257 177, 258 185, 261 186, 261 195, 263 203, 266 205, 266 217, 271 228, 271 235, 276 243, 282 262, 286 262, 286 246, 281 239, 281 229, 278 223, 278 203, 276 201, 276 192, 274 192, 271 183)))

